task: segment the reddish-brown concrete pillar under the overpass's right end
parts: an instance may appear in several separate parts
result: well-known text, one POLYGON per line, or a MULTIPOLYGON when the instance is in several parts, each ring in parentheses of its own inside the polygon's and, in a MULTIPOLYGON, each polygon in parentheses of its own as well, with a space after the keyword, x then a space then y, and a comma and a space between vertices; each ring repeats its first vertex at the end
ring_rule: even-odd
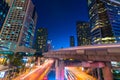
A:
POLYGON ((103 77, 104 80, 113 80, 113 74, 111 72, 111 63, 106 62, 105 67, 103 67, 103 77))

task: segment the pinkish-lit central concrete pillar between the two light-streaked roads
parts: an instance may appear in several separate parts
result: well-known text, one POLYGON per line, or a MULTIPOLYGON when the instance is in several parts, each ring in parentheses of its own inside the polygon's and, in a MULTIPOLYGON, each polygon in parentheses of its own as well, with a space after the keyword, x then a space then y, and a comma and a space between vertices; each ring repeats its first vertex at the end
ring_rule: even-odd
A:
POLYGON ((64 80, 64 61, 56 60, 56 80, 64 80))

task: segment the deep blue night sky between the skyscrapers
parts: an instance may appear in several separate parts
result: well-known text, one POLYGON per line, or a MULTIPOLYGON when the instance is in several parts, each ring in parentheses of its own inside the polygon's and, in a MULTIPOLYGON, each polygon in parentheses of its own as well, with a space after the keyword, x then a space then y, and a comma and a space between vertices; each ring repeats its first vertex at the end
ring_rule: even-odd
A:
POLYGON ((70 46, 76 21, 88 21, 87 0, 33 0, 38 12, 38 27, 48 28, 48 39, 54 49, 70 46))

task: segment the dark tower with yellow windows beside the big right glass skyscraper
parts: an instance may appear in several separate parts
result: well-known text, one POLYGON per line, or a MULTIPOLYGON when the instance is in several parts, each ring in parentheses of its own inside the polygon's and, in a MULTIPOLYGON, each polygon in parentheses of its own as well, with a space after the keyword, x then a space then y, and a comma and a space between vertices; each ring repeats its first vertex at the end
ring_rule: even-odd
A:
POLYGON ((76 31, 77 31, 77 45, 90 45, 90 27, 88 22, 78 21, 76 23, 76 31))

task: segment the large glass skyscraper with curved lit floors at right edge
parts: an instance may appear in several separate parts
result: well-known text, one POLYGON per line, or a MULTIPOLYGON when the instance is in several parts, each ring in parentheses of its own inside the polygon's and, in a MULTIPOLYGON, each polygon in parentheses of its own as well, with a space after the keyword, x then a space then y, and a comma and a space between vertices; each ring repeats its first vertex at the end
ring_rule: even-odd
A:
POLYGON ((120 1, 88 0, 92 44, 120 43, 120 1))

